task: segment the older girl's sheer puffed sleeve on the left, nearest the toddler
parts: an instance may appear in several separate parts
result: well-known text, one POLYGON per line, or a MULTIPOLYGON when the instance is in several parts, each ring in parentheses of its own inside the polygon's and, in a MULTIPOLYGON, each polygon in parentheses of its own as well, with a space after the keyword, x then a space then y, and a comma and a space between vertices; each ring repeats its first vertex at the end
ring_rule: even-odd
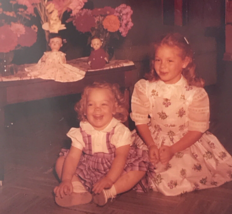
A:
POLYGON ((147 96, 148 84, 147 80, 141 79, 134 86, 130 116, 135 125, 147 124, 149 122, 150 102, 147 96))

